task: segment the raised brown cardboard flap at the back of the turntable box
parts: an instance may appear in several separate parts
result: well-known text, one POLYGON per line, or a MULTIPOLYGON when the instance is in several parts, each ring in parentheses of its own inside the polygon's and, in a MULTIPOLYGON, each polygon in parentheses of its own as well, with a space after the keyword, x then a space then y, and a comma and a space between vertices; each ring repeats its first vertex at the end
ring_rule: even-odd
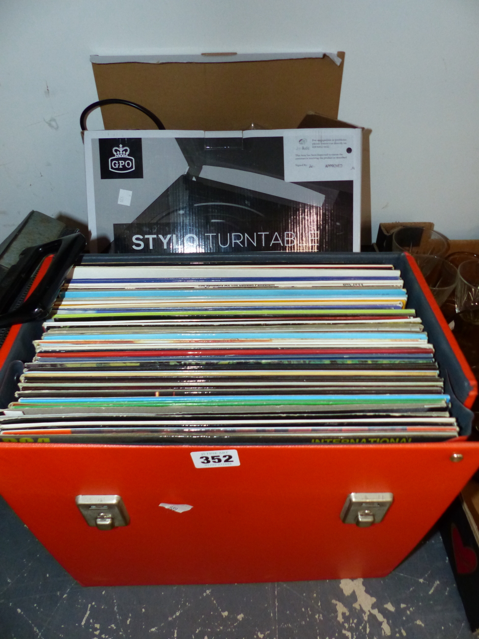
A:
MULTIPOLYGON (((137 102, 168 129, 296 128, 312 111, 337 119, 343 65, 330 54, 285 55, 168 56, 159 63, 125 62, 125 56, 91 59, 100 100, 137 102), (293 57, 298 55, 321 57, 293 57)), ((338 58, 344 60, 344 52, 338 58)), ((102 116, 106 129, 155 128, 147 116, 125 106, 103 107, 102 116)))

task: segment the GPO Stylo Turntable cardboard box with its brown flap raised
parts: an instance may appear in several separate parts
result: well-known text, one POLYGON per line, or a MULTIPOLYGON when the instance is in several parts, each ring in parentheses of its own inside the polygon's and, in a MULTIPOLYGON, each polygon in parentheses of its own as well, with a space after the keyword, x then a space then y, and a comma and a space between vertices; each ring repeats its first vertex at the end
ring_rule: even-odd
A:
POLYGON ((100 100, 141 104, 167 129, 108 105, 105 131, 86 132, 94 251, 360 249, 362 130, 337 120, 344 54, 277 58, 92 56, 100 100))

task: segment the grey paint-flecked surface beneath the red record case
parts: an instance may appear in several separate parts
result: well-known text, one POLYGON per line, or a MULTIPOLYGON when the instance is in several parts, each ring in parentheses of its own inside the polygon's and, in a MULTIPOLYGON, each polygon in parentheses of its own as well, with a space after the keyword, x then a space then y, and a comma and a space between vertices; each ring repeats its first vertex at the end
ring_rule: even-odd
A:
POLYGON ((0 540, 0 639, 473 636, 437 532, 384 579, 110 588, 82 588, 1 498, 0 540))

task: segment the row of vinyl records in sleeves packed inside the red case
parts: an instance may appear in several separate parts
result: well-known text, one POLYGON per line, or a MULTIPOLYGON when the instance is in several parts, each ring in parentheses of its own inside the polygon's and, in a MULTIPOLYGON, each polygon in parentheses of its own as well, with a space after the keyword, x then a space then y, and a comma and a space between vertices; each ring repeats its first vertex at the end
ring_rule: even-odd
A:
POLYGON ((408 443, 457 436, 392 265, 77 266, 3 441, 408 443))

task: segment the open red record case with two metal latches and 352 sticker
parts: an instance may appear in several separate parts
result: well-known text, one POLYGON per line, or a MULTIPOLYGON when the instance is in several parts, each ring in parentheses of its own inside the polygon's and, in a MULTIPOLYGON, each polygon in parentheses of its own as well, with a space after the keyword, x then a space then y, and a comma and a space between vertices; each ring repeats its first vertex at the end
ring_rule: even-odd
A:
MULTIPOLYGON (((191 255, 146 258, 134 263, 208 261, 191 255)), ((82 263, 132 260, 84 256, 82 263)), ((434 344, 453 415, 470 415, 476 381, 411 256, 215 257, 216 263, 235 260, 393 263, 434 344)), ((28 344, 39 330, 34 324, 11 328, 0 351, 4 380, 12 359, 31 357, 28 344)), ((406 445, 235 448, 239 465, 206 472, 190 453, 218 447, 0 443, 0 493, 82 585, 381 577, 413 550, 479 466, 479 443, 465 436, 406 445), (343 523, 347 496, 369 492, 393 493, 383 521, 369 528, 343 523), (109 531, 89 527, 77 495, 121 495, 130 523, 109 531), (181 512, 160 504, 191 508, 181 512)))

